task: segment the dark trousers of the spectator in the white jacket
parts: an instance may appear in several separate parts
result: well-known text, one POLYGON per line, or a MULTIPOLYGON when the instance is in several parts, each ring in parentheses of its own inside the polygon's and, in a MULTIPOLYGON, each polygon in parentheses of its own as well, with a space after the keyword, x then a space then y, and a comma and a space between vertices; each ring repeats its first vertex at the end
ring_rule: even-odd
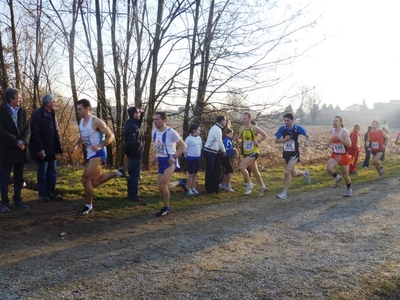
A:
POLYGON ((221 182, 221 155, 208 151, 204 151, 203 155, 206 160, 206 191, 210 194, 218 193, 221 182))

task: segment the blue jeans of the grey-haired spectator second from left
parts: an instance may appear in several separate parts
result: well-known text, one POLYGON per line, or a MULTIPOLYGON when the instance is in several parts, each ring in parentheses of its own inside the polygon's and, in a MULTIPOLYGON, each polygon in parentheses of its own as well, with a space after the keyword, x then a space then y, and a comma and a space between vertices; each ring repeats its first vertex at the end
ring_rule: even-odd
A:
POLYGON ((39 196, 50 197, 54 194, 57 181, 56 165, 56 160, 37 162, 37 182, 39 196))

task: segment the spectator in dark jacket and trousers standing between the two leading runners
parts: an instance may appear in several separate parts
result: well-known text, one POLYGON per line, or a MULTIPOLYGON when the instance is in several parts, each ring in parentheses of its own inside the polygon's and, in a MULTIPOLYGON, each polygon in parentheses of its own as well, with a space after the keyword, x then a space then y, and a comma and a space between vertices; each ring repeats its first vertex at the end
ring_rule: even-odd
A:
POLYGON ((139 200, 139 178, 142 165, 143 135, 140 127, 143 121, 143 111, 136 107, 128 109, 129 120, 125 123, 124 141, 125 154, 128 157, 128 198, 139 200))

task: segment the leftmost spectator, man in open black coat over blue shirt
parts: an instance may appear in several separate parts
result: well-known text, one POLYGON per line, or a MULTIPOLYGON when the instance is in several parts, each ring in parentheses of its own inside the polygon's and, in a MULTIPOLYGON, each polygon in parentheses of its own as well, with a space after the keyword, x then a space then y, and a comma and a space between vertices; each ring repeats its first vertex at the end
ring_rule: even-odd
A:
POLYGON ((24 184, 24 164, 28 160, 30 129, 26 112, 21 108, 22 95, 17 89, 4 91, 4 101, 0 105, 0 191, 1 212, 10 212, 8 181, 14 168, 14 206, 27 209, 22 201, 21 190, 24 184))

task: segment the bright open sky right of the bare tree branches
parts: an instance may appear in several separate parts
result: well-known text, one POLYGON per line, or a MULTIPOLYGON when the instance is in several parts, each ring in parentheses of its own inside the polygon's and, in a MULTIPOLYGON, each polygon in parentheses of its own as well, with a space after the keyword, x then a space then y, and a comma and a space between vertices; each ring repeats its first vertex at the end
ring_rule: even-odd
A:
MULTIPOLYGON (((400 99, 400 1, 317 0, 315 37, 328 38, 293 65, 292 84, 316 85, 322 102, 400 99)), ((310 35, 313 38, 313 35, 310 35)))

